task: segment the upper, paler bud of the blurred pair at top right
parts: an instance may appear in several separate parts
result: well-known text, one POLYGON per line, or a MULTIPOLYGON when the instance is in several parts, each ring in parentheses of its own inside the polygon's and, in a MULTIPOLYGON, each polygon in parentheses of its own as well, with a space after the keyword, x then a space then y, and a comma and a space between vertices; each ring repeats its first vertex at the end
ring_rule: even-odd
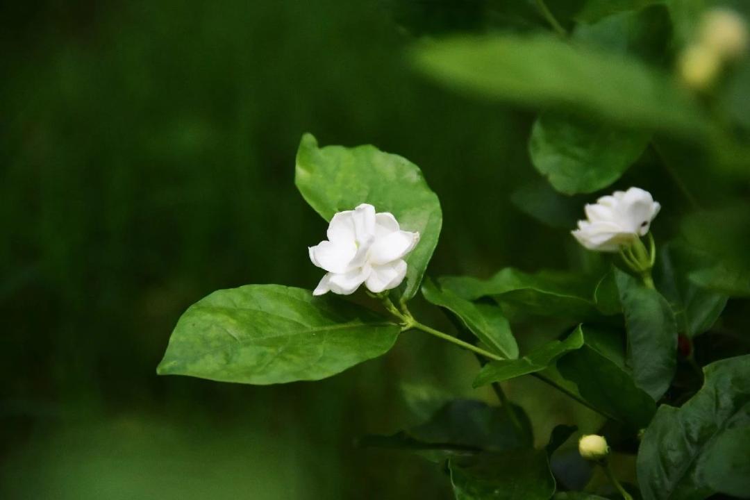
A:
POLYGON ((703 14, 699 37, 701 45, 722 59, 740 58, 748 48, 745 20, 726 8, 715 8, 703 14))

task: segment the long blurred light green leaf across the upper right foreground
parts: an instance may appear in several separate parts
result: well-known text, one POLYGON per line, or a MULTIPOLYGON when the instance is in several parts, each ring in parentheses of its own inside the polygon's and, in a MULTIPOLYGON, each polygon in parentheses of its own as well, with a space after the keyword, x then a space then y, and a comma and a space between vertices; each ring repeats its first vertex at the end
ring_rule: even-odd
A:
POLYGON ((697 106, 666 75, 626 55, 552 36, 453 37, 413 50, 417 67, 472 94, 551 107, 622 127, 694 134, 697 106))

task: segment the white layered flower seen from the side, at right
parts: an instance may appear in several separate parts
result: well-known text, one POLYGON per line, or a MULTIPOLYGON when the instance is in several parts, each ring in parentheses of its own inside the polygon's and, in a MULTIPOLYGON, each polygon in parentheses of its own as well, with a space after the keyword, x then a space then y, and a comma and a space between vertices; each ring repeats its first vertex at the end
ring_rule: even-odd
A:
POLYGON ((586 205, 587 220, 579 220, 572 233, 589 250, 616 252, 646 235, 660 208, 648 191, 615 191, 586 205))

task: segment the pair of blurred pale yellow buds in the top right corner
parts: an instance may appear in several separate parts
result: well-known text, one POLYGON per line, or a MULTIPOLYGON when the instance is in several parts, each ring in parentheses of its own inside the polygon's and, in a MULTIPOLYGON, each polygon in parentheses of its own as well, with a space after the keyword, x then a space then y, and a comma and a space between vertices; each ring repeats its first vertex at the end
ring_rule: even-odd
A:
POLYGON ((703 15, 697 40, 679 56, 679 76, 694 90, 709 89, 721 70, 748 49, 745 20, 733 10, 715 8, 703 15))

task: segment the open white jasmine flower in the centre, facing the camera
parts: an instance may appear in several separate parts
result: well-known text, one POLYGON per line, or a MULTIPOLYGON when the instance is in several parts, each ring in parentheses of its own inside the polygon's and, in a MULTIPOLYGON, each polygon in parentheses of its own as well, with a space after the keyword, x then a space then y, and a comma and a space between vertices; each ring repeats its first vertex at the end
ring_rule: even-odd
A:
POLYGON ((376 214, 367 203, 335 214, 327 235, 308 249, 313 264, 328 271, 313 295, 350 295, 362 283, 374 293, 399 286, 407 275, 404 256, 419 241, 419 232, 401 231, 392 214, 376 214))

